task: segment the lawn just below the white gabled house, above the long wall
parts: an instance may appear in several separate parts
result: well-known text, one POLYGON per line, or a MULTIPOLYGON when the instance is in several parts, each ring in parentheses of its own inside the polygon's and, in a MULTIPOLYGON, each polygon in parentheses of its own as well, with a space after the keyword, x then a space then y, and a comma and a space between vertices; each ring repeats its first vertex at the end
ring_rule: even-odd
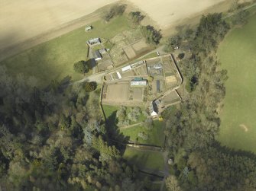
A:
POLYGON ((164 124, 160 121, 154 121, 154 126, 151 130, 147 130, 143 126, 134 126, 127 129, 120 129, 120 132, 130 137, 131 142, 164 146, 164 124), (145 132, 148 135, 148 139, 143 140, 142 138, 138 138, 139 132, 145 132))

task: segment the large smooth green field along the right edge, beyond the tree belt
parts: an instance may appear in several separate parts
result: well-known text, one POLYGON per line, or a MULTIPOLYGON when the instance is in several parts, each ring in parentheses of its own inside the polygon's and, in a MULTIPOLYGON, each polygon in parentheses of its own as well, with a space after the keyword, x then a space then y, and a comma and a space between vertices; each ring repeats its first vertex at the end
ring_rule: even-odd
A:
POLYGON ((256 15, 228 33, 218 56, 228 70, 218 139, 222 145, 256 153, 256 15))

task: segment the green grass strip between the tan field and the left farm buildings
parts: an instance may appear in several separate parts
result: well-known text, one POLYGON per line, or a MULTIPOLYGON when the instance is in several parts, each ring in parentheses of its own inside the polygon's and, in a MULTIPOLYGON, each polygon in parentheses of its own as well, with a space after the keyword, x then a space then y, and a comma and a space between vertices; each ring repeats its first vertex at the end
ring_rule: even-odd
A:
POLYGON ((73 80, 83 75, 73 71, 73 63, 86 59, 86 41, 92 37, 109 39, 123 30, 128 30, 129 21, 125 16, 112 19, 108 24, 99 20, 92 23, 93 30, 84 31, 84 27, 66 33, 61 37, 34 46, 31 49, 0 62, 6 65, 12 75, 23 73, 37 78, 39 86, 46 86, 53 79, 61 80, 70 75, 73 80))

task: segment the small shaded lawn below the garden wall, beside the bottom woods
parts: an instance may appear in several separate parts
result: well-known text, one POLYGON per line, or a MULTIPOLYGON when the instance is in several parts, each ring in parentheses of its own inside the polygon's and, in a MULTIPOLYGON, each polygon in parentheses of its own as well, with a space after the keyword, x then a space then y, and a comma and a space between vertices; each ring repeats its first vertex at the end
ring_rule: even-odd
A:
POLYGON ((163 170, 164 158, 157 151, 142 151, 126 148, 124 158, 131 164, 136 164, 139 169, 163 170))

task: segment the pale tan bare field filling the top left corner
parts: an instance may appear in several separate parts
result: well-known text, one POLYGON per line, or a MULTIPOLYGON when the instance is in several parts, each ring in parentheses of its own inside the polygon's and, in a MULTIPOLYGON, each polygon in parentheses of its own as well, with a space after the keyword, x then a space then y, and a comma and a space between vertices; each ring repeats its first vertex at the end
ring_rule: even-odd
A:
POLYGON ((117 0, 1 0, 0 49, 37 37, 117 0))

